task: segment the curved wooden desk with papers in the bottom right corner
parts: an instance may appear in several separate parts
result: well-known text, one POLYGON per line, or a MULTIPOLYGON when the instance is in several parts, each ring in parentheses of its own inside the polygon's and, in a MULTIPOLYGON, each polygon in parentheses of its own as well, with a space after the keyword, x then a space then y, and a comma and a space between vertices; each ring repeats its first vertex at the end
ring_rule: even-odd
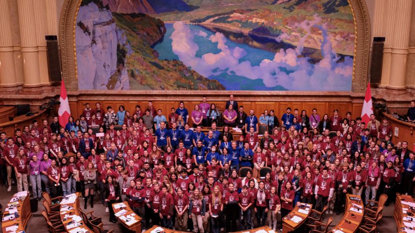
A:
POLYGON ((396 221, 397 232, 404 233, 405 230, 412 230, 415 227, 415 200, 408 195, 396 195, 395 212, 393 218, 396 221), (408 215, 410 213, 410 215, 408 215), (408 227, 408 228, 406 228, 408 227), (411 227, 412 229, 410 229, 411 227))

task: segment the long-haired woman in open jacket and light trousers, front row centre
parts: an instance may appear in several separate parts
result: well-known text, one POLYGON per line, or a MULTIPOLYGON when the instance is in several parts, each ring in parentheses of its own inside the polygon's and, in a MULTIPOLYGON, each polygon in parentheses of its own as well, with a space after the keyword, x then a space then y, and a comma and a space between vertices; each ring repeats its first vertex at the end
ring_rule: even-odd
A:
POLYGON ((206 202, 199 188, 194 189, 193 195, 190 197, 189 218, 193 221, 193 231, 204 233, 203 221, 206 213, 206 202))

